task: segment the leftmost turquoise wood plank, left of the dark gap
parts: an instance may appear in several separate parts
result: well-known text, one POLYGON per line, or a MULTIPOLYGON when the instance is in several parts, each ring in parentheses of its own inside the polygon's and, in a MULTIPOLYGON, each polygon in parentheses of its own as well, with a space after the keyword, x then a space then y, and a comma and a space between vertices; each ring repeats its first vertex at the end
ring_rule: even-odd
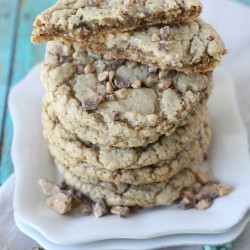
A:
POLYGON ((0 142, 11 74, 19 0, 0 0, 0 142))

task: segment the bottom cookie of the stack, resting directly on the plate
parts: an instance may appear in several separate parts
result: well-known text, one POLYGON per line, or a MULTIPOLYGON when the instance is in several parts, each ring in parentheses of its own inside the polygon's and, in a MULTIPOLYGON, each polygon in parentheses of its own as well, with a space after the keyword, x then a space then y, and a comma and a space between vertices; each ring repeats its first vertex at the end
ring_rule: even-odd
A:
POLYGON ((68 185, 94 201, 105 200, 110 207, 170 205, 179 198, 183 188, 190 187, 195 182, 194 174, 190 170, 184 169, 163 182, 140 186, 115 185, 110 182, 99 182, 84 175, 79 177, 62 164, 57 164, 57 166, 68 185))

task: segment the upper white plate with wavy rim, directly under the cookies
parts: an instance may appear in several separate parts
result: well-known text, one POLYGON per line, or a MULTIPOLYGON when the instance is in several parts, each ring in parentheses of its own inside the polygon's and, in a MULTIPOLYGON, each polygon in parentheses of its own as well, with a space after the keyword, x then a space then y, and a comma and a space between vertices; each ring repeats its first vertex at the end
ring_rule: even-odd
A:
POLYGON ((215 72, 209 102, 213 139, 208 164, 216 179, 234 192, 217 199, 206 211, 182 211, 176 206, 145 209, 126 220, 115 216, 96 219, 61 216, 48 209, 38 179, 56 180, 56 170, 42 137, 43 90, 39 65, 11 92, 14 122, 12 157, 16 170, 15 212, 51 242, 72 245, 105 239, 147 239, 173 234, 211 234, 228 231, 250 208, 250 160, 247 135, 240 119, 230 77, 215 72))

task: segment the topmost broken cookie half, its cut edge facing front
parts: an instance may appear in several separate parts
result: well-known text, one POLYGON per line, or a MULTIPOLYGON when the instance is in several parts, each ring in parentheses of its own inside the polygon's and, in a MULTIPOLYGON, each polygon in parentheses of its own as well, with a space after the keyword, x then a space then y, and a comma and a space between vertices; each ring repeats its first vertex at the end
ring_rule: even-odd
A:
POLYGON ((188 22, 202 10, 198 0, 59 0, 38 15, 32 41, 84 40, 103 33, 132 30, 158 23, 188 22))

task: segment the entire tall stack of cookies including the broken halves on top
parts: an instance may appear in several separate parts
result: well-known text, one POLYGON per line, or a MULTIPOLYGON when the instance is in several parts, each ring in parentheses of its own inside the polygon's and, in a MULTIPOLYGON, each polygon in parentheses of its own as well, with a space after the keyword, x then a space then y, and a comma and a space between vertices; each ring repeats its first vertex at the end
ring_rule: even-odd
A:
POLYGON ((42 123, 66 183, 112 206, 169 205, 195 182, 210 141, 205 107, 225 54, 198 0, 59 0, 42 123))

